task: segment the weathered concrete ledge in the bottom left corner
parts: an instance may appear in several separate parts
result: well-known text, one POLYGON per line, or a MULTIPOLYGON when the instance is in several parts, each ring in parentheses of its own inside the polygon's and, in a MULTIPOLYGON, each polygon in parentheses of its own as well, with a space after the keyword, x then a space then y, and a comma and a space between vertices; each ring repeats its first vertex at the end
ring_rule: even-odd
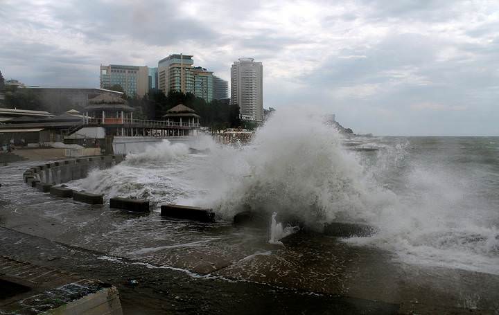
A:
POLYGON ((0 256, 0 314, 123 314, 116 287, 0 256))

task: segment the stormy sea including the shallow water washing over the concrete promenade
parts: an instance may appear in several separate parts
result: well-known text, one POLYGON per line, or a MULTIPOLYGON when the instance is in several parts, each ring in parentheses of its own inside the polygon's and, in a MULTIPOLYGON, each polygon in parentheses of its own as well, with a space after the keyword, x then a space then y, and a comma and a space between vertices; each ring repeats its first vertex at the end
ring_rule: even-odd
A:
POLYGON ((105 206, 26 188, 33 163, 4 167, 0 224, 194 278, 499 309, 499 137, 349 136, 302 113, 277 112, 251 143, 164 140, 66 183, 105 206), (111 209, 110 197, 148 199, 152 213, 111 209), (217 223, 161 218, 161 204, 211 208, 217 223), (233 226, 247 210, 268 226, 233 226), (373 233, 322 235, 331 222, 373 233))

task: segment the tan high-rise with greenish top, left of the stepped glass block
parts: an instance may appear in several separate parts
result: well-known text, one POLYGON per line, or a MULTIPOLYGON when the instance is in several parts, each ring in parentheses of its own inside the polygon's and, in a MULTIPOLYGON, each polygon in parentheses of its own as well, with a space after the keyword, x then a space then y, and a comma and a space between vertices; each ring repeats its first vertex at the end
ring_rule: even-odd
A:
POLYGON ((158 62, 158 87, 165 94, 169 91, 194 93, 192 55, 173 54, 158 62))

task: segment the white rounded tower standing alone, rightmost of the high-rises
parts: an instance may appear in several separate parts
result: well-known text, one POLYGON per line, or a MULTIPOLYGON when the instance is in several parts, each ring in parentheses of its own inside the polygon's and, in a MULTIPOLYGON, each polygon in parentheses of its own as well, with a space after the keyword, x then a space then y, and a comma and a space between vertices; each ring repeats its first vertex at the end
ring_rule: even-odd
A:
POLYGON ((239 58, 231 66, 231 104, 239 105, 244 120, 263 120, 263 65, 239 58))

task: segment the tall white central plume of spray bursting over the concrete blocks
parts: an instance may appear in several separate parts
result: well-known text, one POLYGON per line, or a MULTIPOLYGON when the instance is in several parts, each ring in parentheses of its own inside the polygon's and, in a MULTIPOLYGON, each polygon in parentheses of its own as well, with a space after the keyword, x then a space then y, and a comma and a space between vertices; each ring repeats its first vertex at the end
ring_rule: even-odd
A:
POLYGON ((367 209, 385 206, 392 192, 365 180, 356 154, 342 135, 307 110, 283 111, 243 150, 213 151, 207 168, 193 170, 208 194, 198 200, 231 219, 242 210, 269 216, 276 210, 301 222, 365 222, 367 209), (381 195, 381 196, 380 196, 381 195))

